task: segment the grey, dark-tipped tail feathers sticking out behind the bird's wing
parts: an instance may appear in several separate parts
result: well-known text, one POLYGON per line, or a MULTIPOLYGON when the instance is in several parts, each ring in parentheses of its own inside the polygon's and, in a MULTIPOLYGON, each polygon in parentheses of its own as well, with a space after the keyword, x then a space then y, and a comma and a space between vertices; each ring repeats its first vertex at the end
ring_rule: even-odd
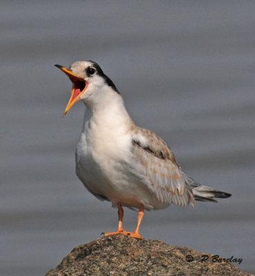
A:
POLYGON ((231 197, 231 194, 222 192, 221 190, 214 190, 213 188, 203 186, 191 177, 187 177, 187 183, 192 186, 194 199, 196 199, 197 201, 218 202, 214 198, 231 197))

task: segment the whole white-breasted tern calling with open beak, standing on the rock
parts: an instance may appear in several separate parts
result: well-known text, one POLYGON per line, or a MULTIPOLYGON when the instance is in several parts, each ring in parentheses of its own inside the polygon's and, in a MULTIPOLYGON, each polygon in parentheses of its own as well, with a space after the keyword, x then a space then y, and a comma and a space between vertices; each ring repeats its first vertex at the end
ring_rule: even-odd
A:
POLYGON ((217 202, 215 198, 231 196, 186 175, 159 135, 136 126, 119 90, 96 62, 55 66, 72 82, 63 117, 77 101, 85 103, 76 175, 92 195, 118 208, 117 230, 104 233, 106 237, 122 234, 143 239, 139 232, 145 210, 171 204, 195 208, 196 201, 217 202), (134 232, 123 228, 123 207, 139 210, 134 232))

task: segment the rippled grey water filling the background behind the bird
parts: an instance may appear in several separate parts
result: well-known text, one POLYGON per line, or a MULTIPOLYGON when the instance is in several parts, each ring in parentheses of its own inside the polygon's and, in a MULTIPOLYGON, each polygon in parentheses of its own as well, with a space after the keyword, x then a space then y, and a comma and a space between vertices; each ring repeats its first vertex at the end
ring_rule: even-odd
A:
MULTIPOLYGON (((74 172, 84 106, 54 63, 97 61, 183 170, 232 193, 145 213, 141 234, 255 273, 255 2, 1 1, 0 274, 45 275, 116 229, 74 172)), ((136 213, 125 211, 134 229, 136 213)))

